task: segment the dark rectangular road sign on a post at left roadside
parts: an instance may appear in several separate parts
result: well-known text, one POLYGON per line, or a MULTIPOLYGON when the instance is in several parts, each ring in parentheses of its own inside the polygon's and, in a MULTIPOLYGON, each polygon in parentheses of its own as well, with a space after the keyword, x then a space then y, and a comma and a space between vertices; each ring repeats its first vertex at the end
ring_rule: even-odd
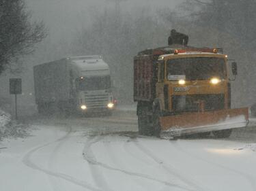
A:
POLYGON ((21 78, 10 78, 10 94, 15 94, 15 119, 18 119, 17 114, 17 94, 22 93, 21 78))

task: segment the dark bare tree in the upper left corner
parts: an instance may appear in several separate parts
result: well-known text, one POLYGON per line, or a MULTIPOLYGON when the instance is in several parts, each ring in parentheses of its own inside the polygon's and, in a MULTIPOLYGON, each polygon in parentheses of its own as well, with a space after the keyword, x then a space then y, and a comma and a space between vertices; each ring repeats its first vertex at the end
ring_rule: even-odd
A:
POLYGON ((0 74, 46 37, 44 23, 30 19, 24 0, 0 0, 0 74))

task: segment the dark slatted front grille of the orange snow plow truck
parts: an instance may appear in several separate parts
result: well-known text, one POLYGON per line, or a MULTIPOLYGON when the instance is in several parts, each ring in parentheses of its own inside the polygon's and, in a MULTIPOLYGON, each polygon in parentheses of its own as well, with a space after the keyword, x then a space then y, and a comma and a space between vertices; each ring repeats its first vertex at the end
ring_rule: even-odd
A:
POLYGON ((224 109, 224 94, 195 94, 195 95, 174 95, 172 98, 173 111, 199 111, 200 103, 203 103, 204 111, 224 109))

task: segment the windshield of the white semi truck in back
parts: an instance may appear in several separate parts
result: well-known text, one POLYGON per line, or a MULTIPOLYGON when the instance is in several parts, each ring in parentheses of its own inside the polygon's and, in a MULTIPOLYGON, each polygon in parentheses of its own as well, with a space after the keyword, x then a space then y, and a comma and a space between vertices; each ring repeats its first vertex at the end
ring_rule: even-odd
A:
POLYGON ((110 76, 84 77, 79 80, 79 90, 106 90, 111 88, 110 76))

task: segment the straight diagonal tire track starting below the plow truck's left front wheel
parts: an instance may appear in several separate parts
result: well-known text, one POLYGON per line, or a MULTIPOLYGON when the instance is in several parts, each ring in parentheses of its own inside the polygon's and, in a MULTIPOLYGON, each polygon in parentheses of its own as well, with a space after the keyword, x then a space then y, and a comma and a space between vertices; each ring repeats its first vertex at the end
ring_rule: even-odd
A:
MULTIPOLYGON (((211 190, 210 188, 205 188, 203 186, 199 186, 199 183, 195 184, 195 182, 197 182, 195 179, 192 179, 191 177, 188 179, 187 178, 188 175, 186 175, 185 173, 181 173, 175 167, 173 167, 171 164, 166 164, 163 160, 158 158, 158 156, 156 156, 156 154, 154 154, 153 152, 148 150, 146 147, 144 147, 141 143, 139 143, 138 140, 133 140, 131 142, 134 143, 134 145, 137 145, 137 147, 139 148, 139 150, 141 150, 141 152, 145 153, 147 156, 152 158, 156 163, 161 165, 163 167, 162 169, 165 169, 165 171, 167 171, 167 173, 174 175, 175 177, 178 177, 181 181, 183 181, 188 186, 192 186, 197 191, 211 190)), ((185 189, 191 190, 188 188, 185 188, 185 189)))

